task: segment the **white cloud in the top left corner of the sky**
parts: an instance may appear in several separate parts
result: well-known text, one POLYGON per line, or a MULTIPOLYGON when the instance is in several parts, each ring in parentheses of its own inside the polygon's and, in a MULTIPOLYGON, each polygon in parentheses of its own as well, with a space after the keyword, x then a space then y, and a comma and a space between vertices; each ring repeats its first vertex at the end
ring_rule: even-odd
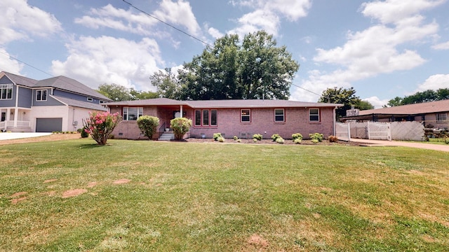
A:
POLYGON ((26 0, 0 1, 0 45, 62 31, 54 15, 29 6, 26 0))

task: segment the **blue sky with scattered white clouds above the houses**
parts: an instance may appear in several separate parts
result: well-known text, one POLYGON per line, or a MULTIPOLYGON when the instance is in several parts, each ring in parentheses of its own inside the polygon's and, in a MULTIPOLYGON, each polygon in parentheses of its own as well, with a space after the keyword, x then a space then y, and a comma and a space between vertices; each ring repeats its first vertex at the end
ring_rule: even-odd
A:
POLYGON ((156 71, 263 29, 300 64, 290 100, 354 87, 380 108, 449 88, 448 1, 1 0, 0 71, 155 91, 156 71))

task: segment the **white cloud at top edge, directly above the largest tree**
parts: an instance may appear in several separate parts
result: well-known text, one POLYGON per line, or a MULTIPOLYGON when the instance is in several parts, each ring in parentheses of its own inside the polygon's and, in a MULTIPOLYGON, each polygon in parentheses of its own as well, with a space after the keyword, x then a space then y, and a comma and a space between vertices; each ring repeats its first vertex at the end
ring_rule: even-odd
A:
POLYGON ((260 29, 277 36, 281 18, 296 21, 298 18, 307 16, 307 11, 311 8, 310 0, 248 0, 231 1, 231 3, 233 6, 239 5, 254 9, 237 20, 238 27, 228 31, 229 34, 239 34, 239 36, 260 29))

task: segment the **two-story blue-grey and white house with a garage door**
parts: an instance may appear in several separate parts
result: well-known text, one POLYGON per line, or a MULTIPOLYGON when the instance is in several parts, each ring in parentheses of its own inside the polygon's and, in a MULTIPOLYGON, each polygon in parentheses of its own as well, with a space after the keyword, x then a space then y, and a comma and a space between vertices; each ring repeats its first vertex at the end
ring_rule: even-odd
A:
POLYGON ((78 81, 58 76, 34 80, 0 72, 0 130, 65 132, 83 127, 90 111, 107 111, 111 99, 78 81))

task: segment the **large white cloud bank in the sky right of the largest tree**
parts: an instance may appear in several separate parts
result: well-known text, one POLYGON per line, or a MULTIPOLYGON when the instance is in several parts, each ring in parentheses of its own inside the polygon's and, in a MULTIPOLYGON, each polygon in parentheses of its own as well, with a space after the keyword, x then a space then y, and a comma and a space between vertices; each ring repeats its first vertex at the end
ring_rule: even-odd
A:
MULTIPOLYGON (((301 86, 304 89, 321 93, 328 87, 349 87, 351 82, 363 80, 381 73, 410 70, 426 62, 421 55, 399 46, 419 43, 430 38, 438 31, 436 22, 424 25, 424 18, 417 15, 420 10, 434 7, 442 1, 387 0, 364 3, 362 13, 376 18, 381 24, 373 25, 363 31, 347 33, 347 42, 331 49, 318 48, 314 61, 317 64, 332 64, 334 70, 310 71, 307 80, 301 86), (393 18, 396 13, 396 18, 393 18), (400 18, 397 18, 400 17, 400 18), (394 24, 389 24, 394 22, 394 24)), ((293 99, 310 101, 309 93, 296 89, 293 99)))

